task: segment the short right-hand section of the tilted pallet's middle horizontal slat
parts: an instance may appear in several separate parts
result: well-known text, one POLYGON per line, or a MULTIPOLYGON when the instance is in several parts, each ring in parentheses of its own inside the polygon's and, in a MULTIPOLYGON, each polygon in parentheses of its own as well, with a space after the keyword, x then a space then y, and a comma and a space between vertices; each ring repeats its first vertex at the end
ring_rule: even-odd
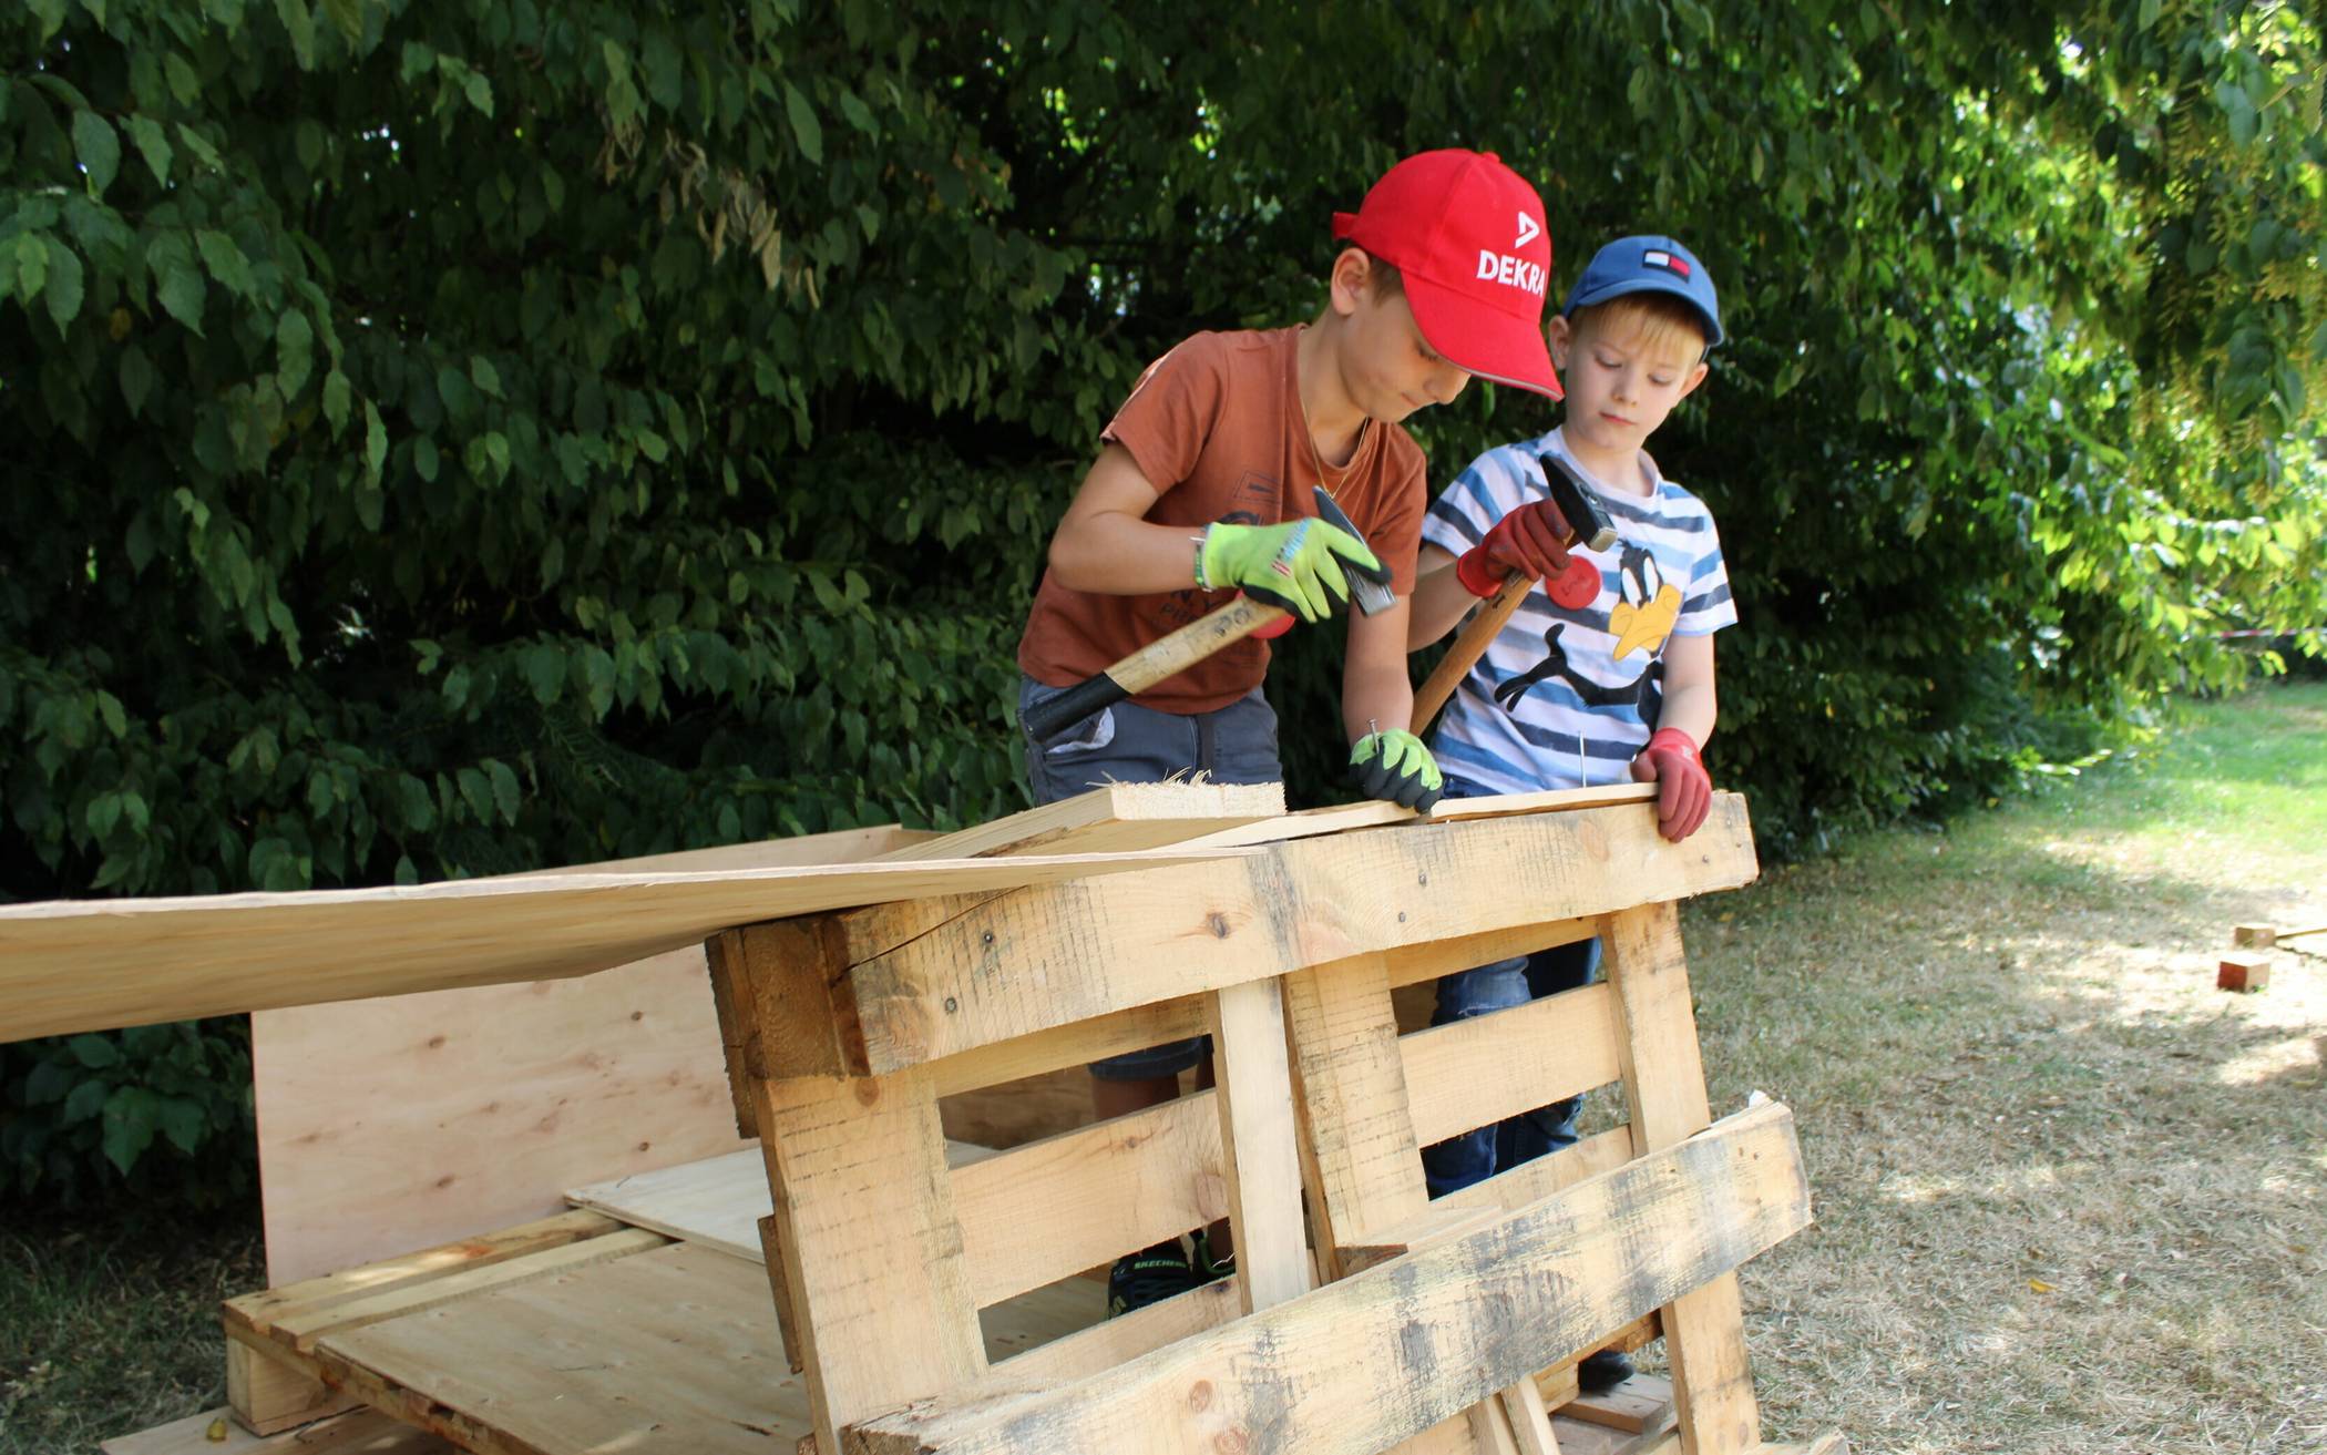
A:
POLYGON ((1615 994, 1585 985, 1406 1036, 1415 1141, 1431 1145, 1608 1085, 1622 1073, 1617 1031, 1615 994))

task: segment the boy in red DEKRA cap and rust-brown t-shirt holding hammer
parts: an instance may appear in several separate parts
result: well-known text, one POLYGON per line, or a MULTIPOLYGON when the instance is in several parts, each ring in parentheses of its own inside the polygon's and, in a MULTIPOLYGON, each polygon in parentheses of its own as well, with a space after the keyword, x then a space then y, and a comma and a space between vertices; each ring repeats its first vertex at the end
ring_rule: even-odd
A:
MULTIPOLYGON (((1049 570, 1019 640, 1019 717, 1236 591, 1322 622, 1347 601, 1343 568, 1387 582, 1396 603, 1350 615, 1343 729, 1350 768, 1380 799, 1429 808, 1438 764, 1415 733, 1406 675, 1415 545, 1429 505, 1422 449, 1401 421, 1447 403, 1471 375, 1559 398, 1545 349, 1552 240, 1536 189, 1492 154, 1424 151, 1382 175, 1308 326, 1198 333, 1147 365, 1101 433, 1049 542, 1049 570), (1366 540, 1315 519, 1324 487, 1366 540)), ((1287 622, 1289 624, 1289 622, 1287 622)), ((1268 643, 1245 638, 1047 743, 1026 743, 1038 803, 1103 782, 1210 773, 1275 782, 1278 722, 1261 696, 1268 643)), ((1101 1117, 1177 1096, 1210 1069, 1203 1041, 1091 1066, 1101 1117)), ((1117 1262, 1112 1313, 1224 1269, 1196 1236, 1117 1262)))

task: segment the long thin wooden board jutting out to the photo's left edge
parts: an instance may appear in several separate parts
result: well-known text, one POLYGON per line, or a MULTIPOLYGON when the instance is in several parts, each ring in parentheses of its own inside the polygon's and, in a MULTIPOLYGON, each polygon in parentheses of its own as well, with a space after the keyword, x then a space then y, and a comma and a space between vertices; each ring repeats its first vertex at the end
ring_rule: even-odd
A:
POLYGON ((23 903, 0 908, 0 1003, 9 1008, 5 1034, 21 1038, 558 980, 684 950, 735 924, 1250 852, 572 871, 386 889, 23 903))

